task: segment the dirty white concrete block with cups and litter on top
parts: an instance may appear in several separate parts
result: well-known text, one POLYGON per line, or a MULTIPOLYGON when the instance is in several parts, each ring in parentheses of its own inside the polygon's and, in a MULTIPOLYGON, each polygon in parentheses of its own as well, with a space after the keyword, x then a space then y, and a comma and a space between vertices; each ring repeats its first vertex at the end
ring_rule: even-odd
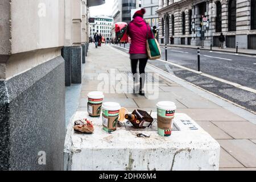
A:
MULTIPOLYGON (((156 113, 152 113, 156 118, 156 113)), ((112 134, 102 129, 101 118, 89 118, 78 111, 69 123, 65 139, 68 170, 218 170, 220 145, 195 121, 176 113, 171 137, 160 137, 156 131, 126 130, 118 127, 112 134), (92 119, 94 134, 75 134, 76 119, 92 119), (189 127, 192 127, 192 130, 189 127), (138 138, 138 133, 150 138, 138 138)))

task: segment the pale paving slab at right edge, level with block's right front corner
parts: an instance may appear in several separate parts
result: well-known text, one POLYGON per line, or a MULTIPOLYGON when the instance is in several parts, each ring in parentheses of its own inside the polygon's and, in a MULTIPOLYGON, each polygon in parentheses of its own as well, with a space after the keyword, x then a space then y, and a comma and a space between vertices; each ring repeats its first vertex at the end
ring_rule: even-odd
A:
POLYGON ((245 167, 256 167, 256 144, 247 139, 218 139, 221 147, 245 167))

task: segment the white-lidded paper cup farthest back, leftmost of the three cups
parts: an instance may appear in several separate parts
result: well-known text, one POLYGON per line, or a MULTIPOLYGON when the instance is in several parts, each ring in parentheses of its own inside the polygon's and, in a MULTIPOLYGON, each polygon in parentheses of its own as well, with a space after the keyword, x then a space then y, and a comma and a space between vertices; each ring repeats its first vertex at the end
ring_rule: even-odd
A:
POLYGON ((88 113, 90 117, 100 117, 104 94, 102 92, 90 92, 88 97, 88 113))

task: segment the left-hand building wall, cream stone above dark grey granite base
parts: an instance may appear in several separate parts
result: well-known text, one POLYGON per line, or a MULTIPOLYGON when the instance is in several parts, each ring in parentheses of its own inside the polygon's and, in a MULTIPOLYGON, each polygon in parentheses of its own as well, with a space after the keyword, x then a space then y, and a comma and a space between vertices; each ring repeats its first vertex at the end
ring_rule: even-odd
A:
POLYGON ((81 82, 88 7, 102 3, 1 0, 0 171, 63 170, 65 82, 81 82))

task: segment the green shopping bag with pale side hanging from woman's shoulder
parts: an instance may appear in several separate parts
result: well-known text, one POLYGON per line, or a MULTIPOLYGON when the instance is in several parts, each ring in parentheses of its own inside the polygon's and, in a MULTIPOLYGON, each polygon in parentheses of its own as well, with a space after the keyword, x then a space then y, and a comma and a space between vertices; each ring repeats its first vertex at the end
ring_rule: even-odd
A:
MULTIPOLYGON (((147 26, 147 23, 146 23, 147 26)), ((161 58, 161 49, 158 43, 158 40, 149 39, 147 34, 147 55, 148 59, 155 60, 161 58)))

